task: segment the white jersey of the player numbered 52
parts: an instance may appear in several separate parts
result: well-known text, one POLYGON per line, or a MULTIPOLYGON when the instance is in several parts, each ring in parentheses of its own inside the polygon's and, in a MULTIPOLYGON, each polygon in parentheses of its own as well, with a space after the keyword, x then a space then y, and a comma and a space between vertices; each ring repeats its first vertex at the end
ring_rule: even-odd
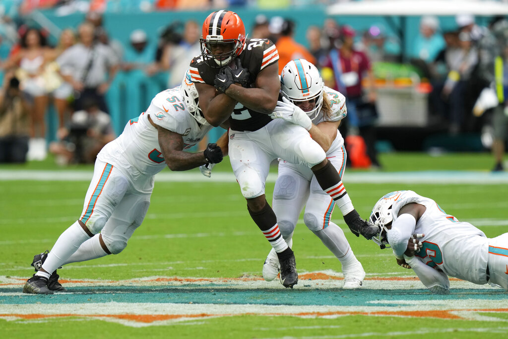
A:
POLYGON ((180 96, 180 87, 158 93, 146 112, 129 120, 123 133, 104 146, 97 156, 99 160, 117 166, 141 191, 151 190, 153 175, 166 167, 157 129, 150 124, 148 116, 155 125, 181 134, 184 149, 200 142, 211 129, 210 125, 198 124, 187 111, 180 96))

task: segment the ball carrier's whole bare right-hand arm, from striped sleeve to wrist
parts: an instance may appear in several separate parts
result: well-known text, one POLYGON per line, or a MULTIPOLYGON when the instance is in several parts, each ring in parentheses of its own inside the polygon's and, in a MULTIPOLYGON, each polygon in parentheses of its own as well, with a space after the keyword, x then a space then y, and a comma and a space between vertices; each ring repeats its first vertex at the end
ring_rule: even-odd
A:
POLYGON ((279 90, 278 63, 274 63, 258 74, 255 87, 244 88, 235 83, 229 86, 225 93, 235 102, 239 102, 253 111, 270 114, 277 104, 279 90))

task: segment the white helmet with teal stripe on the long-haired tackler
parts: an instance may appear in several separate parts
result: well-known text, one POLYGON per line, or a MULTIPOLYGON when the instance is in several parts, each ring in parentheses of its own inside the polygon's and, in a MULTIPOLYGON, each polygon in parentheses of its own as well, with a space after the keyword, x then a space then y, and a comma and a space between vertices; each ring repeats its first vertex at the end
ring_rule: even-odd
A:
POLYGON ((323 79, 317 68, 305 59, 292 60, 280 73, 282 95, 292 103, 315 100, 314 108, 306 112, 314 119, 323 105, 323 79))

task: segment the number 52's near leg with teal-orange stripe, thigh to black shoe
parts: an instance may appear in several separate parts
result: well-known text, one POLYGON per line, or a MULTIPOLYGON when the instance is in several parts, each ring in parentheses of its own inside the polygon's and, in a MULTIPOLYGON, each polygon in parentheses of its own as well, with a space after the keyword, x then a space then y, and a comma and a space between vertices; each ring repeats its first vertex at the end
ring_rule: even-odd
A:
POLYGON ((23 292, 52 293, 46 286, 48 279, 83 242, 102 230, 128 187, 128 180, 118 169, 96 161, 81 218, 58 237, 41 268, 25 284, 23 292))

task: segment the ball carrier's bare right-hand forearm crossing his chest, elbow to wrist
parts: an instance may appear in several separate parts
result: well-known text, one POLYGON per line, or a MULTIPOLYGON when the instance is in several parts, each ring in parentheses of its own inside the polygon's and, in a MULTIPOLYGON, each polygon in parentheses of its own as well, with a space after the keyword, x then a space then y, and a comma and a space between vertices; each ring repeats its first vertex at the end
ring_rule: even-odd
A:
POLYGON ((226 90, 228 97, 253 111, 271 114, 277 105, 277 97, 263 88, 244 88, 233 84, 226 90))

